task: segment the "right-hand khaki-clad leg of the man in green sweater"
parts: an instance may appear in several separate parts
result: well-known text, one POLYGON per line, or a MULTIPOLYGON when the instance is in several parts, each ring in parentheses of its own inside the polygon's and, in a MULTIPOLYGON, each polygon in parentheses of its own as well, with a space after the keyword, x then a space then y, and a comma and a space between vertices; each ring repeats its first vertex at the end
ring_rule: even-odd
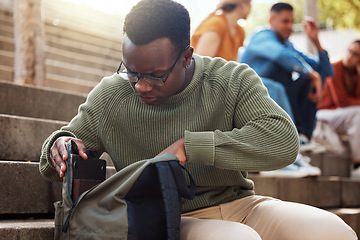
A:
POLYGON ((250 226, 263 240, 357 239, 335 214, 304 204, 250 196, 220 208, 224 219, 250 226))

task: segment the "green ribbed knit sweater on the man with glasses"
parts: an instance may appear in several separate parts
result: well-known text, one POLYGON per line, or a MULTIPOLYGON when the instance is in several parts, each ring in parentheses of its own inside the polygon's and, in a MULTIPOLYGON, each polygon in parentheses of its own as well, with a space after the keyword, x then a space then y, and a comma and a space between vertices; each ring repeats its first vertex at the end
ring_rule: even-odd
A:
POLYGON ((198 55, 194 60, 190 84, 159 106, 144 103, 117 74, 104 78, 69 125, 44 142, 40 172, 59 180, 49 158, 59 136, 79 138, 98 155, 107 152, 117 170, 185 137, 185 167, 197 194, 184 201, 183 212, 254 194, 248 171, 274 170, 295 160, 295 126, 247 65, 198 55))

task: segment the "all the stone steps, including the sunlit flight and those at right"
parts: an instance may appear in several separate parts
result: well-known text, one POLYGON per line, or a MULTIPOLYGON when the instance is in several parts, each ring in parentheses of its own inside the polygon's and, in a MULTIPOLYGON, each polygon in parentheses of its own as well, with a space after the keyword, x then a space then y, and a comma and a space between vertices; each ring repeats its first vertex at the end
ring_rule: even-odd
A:
MULTIPOLYGON (((9 5, 12 1, 7 0, 9 5)), ((59 1, 46 2, 61 8, 56 5, 59 1)), ((120 61, 120 40, 114 34, 104 33, 100 38, 93 30, 84 33, 81 19, 63 23, 61 17, 71 12, 64 17, 51 11, 45 22, 48 83, 32 87, 12 83, 12 10, 0 8, 0 240, 53 239, 53 203, 61 199, 61 183, 40 175, 41 145, 76 115, 88 91, 112 74, 120 61)), ((348 158, 304 154, 322 168, 324 176, 293 179, 250 173, 256 193, 332 211, 360 236, 360 181, 348 177, 348 162, 341 160, 348 158)), ((110 166, 107 175, 114 172, 110 166)))

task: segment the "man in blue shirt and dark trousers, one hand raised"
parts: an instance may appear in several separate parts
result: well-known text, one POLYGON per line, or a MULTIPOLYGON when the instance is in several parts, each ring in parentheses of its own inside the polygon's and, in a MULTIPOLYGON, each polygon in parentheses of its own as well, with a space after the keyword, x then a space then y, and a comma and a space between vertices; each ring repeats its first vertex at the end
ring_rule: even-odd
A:
MULTIPOLYGON (((283 85, 290 101, 294 123, 299 133, 311 137, 315 124, 316 104, 321 99, 323 80, 333 74, 327 52, 321 47, 315 22, 308 20, 304 30, 318 51, 318 57, 296 50, 289 41, 293 31, 293 8, 287 3, 276 3, 270 10, 271 29, 256 33, 241 56, 257 74, 265 79, 269 89, 283 85)), ((270 92, 269 92, 270 93, 270 92)), ((274 100, 276 94, 273 95, 274 100)), ((280 104, 279 104, 280 105, 280 104)), ((286 109, 285 109, 286 110, 286 109)), ((291 115, 291 114, 290 114, 291 115)))

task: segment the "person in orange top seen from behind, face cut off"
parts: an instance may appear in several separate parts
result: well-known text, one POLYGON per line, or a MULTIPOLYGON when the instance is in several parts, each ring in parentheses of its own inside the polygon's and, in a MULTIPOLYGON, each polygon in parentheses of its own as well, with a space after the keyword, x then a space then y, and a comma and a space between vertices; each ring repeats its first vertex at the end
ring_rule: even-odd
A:
POLYGON ((245 39, 245 31, 238 20, 246 19, 250 10, 251 0, 220 0, 216 10, 191 37, 195 53, 236 61, 238 50, 245 39))

